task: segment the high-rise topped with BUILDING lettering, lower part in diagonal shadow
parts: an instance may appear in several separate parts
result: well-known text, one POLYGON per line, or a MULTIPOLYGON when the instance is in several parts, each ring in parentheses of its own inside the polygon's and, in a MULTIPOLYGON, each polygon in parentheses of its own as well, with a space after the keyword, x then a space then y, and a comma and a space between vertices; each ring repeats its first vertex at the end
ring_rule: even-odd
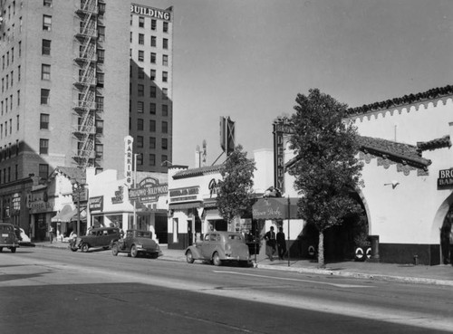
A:
POLYGON ((130 135, 140 171, 171 166, 172 21, 171 7, 130 5, 130 135))

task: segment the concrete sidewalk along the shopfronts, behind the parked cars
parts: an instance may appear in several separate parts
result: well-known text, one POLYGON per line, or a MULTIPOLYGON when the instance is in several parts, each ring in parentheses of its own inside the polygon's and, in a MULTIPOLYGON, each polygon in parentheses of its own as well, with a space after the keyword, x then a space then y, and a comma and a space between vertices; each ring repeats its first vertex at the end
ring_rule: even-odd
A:
MULTIPOLYGON (((36 247, 52 247, 68 249, 69 243, 43 242, 35 243, 36 247)), ((169 249, 167 244, 161 244, 163 255, 159 260, 185 262, 183 250, 169 249)), ((255 260, 252 255, 252 260, 255 260)), ((453 266, 451 265, 413 265, 374 262, 335 262, 327 263, 325 269, 318 269, 316 262, 294 259, 273 262, 268 259, 258 259, 255 267, 266 270, 303 272, 342 277, 355 277, 369 280, 413 282, 421 284, 435 284, 453 286, 453 266)))

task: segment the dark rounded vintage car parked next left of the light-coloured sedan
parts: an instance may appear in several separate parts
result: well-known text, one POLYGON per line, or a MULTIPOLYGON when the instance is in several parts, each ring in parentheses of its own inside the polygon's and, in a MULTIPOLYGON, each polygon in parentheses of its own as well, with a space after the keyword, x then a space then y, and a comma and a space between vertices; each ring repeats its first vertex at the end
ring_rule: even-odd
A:
POLYGON ((159 244, 152 239, 151 231, 128 230, 124 238, 111 245, 111 253, 128 253, 128 256, 137 257, 139 254, 149 255, 157 259, 162 255, 159 244))

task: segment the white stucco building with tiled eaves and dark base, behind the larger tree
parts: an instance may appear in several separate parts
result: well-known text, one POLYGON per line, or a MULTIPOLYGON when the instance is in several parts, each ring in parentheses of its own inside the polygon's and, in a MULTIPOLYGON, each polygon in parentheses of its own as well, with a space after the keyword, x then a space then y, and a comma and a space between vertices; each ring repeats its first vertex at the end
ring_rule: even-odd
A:
MULTIPOLYGON (((453 87, 349 110, 357 127, 364 187, 356 189, 376 261, 446 261, 453 212, 453 87)), ((284 163, 294 157, 284 141, 284 163)), ((284 174, 286 194, 297 196, 284 174)), ((308 244, 307 244, 308 246, 308 244)), ((326 244, 326 248, 330 247, 326 244)))

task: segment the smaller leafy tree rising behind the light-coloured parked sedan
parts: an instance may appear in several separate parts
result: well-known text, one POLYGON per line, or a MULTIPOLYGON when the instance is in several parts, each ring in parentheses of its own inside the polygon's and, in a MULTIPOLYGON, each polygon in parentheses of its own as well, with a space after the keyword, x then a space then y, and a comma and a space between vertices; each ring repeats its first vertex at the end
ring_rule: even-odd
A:
POLYGON ((242 146, 227 157, 220 174, 222 180, 218 183, 217 207, 220 215, 228 222, 232 230, 232 222, 236 216, 250 213, 253 205, 253 186, 255 161, 246 157, 242 146))

